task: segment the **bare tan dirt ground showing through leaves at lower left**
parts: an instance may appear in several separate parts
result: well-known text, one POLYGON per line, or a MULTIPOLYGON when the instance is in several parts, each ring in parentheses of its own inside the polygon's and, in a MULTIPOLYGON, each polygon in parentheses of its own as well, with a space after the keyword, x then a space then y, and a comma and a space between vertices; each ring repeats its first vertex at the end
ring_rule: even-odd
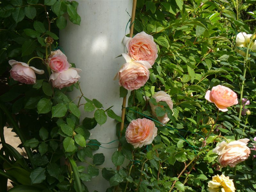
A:
MULTIPOLYGON (((21 148, 18 148, 18 146, 21 144, 20 138, 16 135, 15 132, 12 132, 12 128, 4 127, 4 139, 5 142, 10 144, 13 148, 15 148, 17 151, 20 152, 22 156, 25 156, 25 153, 21 148)), ((2 145, 0 145, 0 149, 2 148, 2 145)), ((7 188, 12 188, 12 184, 10 183, 10 180, 8 180, 7 188)))

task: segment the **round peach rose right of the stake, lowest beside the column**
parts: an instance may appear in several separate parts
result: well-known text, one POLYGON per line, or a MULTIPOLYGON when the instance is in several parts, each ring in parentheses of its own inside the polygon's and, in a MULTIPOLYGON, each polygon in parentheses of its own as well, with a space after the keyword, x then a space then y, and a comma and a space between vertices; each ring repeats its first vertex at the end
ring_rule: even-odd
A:
POLYGON ((156 135, 156 125, 146 118, 132 120, 125 132, 127 142, 131 143, 134 148, 151 144, 156 135))

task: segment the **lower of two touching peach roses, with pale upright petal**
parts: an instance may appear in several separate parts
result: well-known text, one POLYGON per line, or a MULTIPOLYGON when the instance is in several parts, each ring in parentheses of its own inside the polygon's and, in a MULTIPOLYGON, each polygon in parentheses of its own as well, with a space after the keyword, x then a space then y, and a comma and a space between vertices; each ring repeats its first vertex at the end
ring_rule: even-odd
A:
POLYGON ((148 61, 134 61, 130 56, 122 54, 126 63, 121 67, 115 78, 119 79, 119 85, 127 90, 139 89, 149 79, 149 70, 152 68, 148 61))

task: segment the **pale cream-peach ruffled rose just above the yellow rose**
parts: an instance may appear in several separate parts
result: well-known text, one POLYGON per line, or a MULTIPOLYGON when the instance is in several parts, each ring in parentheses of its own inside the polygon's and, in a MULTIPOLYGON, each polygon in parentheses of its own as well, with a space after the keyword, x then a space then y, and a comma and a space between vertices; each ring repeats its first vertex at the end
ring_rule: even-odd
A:
POLYGON ((230 167, 235 167, 236 164, 249 157, 251 151, 246 146, 248 141, 249 139, 239 139, 230 143, 222 141, 212 152, 219 155, 218 162, 220 166, 226 167, 229 165, 230 167))

